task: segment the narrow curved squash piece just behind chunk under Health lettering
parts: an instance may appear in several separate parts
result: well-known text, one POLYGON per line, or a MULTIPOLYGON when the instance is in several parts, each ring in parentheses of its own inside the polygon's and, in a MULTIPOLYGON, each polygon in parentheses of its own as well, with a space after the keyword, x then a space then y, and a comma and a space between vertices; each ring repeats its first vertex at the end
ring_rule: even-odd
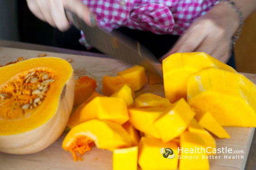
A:
POLYGON ((214 155, 212 151, 216 149, 216 142, 212 135, 206 131, 203 126, 199 125, 198 122, 193 118, 188 126, 188 131, 199 135, 203 139, 206 148, 208 148, 208 155, 214 155), (210 154, 209 154, 210 153, 210 154))

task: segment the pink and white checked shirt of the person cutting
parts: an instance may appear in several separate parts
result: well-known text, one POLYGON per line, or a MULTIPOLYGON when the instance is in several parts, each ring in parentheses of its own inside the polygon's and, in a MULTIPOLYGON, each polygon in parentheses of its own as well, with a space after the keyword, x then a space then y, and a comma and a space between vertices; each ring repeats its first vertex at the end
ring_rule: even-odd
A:
MULTIPOLYGON (((106 31, 120 26, 155 34, 182 35, 216 0, 83 0, 106 31)), ((88 46, 83 32, 79 40, 88 46)))

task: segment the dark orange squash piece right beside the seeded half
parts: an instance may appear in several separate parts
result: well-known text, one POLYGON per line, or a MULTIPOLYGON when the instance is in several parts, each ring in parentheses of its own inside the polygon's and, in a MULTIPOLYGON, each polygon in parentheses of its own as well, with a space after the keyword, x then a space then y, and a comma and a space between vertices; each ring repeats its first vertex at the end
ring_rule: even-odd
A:
POLYGON ((83 76, 75 80, 74 106, 82 104, 93 94, 97 85, 95 79, 83 76))

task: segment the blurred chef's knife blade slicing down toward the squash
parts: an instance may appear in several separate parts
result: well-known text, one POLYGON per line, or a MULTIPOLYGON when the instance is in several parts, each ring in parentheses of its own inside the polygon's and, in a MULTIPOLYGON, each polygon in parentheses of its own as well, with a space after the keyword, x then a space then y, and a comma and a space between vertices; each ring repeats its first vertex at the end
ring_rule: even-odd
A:
POLYGON ((68 20, 84 32, 86 41, 94 48, 130 65, 142 65, 151 74, 163 77, 162 66, 138 41, 115 30, 109 33, 98 26, 90 27, 70 10, 65 9, 65 13, 68 20))

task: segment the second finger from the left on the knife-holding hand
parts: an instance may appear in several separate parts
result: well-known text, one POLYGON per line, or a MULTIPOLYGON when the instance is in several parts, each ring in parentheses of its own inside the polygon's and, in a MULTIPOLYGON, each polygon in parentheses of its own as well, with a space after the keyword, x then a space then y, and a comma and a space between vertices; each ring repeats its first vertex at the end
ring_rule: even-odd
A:
POLYGON ((50 7, 49 0, 35 0, 38 6, 40 7, 41 13, 43 14, 46 22, 48 22, 51 26, 56 27, 56 24, 53 20, 50 7))

